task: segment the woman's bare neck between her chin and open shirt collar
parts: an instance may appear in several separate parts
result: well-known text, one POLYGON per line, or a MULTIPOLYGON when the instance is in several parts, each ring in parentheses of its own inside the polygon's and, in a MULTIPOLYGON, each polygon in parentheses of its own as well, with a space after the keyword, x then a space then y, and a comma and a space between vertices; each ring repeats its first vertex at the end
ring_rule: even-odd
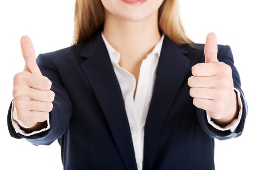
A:
POLYGON ((130 21, 113 16, 105 9, 103 34, 111 46, 120 52, 120 62, 141 61, 153 50, 161 38, 157 15, 156 12, 141 21, 130 21))

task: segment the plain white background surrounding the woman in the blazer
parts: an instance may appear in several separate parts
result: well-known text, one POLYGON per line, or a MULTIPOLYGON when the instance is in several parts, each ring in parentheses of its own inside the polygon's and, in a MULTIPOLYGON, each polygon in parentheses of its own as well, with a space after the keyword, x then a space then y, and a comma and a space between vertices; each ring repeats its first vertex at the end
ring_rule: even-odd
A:
MULTIPOLYGON (((215 140, 216 170, 256 170, 256 10, 254 0, 180 0, 181 16, 194 42, 215 32, 218 43, 230 45, 248 103, 242 136, 215 140)), ((6 115, 12 100, 13 76, 24 68, 20 37, 28 34, 39 53, 71 45, 74 0, 0 1, 0 169, 62 170, 57 141, 34 146, 10 137, 6 115)))

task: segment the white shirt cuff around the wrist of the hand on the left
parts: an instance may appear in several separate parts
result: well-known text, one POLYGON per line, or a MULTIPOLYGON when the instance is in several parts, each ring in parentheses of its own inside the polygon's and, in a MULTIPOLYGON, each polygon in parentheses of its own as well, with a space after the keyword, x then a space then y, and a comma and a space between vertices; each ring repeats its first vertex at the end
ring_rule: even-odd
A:
POLYGON ((21 127, 19 124, 22 124, 21 121, 19 121, 19 119, 17 118, 17 111, 16 111, 16 108, 13 104, 13 101, 12 101, 12 109, 11 109, 11 120, 12 120, 12 125, 15 129, 15 132, 16 133, 20 133, 21 135, 23 136, 31 136, 31 135, 34 135, 34 134, 38 134, 40 132, 43 132, 43 131, 46 131, 50 128, 50 121, 49 121, 49 117, 47 119, 47 127, 46 128, 43 128, 39 131, 33 131, 31 133, 26 133, 25 131, 21 130, 21 127))

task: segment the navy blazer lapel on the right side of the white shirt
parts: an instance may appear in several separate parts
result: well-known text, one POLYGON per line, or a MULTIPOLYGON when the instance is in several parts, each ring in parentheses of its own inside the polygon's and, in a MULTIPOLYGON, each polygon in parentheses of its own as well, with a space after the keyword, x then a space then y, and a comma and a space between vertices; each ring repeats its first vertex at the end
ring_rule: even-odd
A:
POLYGON ((189 71, 191 60, 184 55, 186 52, 188 51, 184 47, 177 46, 165 36, 145 123, 143 170, 151 170, 166 116, 180 86, 187 81, 184 78, 189 71))

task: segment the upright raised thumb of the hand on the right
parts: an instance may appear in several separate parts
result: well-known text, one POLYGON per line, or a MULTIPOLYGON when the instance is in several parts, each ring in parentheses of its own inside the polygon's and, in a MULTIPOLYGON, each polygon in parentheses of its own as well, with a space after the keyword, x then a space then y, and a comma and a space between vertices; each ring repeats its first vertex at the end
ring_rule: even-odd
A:
POLYGON ((218 53, 217 37, 215 33, 209 33, 206 37, 205 47, 204 47, 205 63, 219 62, 217 59, 217 53, 218 53))

